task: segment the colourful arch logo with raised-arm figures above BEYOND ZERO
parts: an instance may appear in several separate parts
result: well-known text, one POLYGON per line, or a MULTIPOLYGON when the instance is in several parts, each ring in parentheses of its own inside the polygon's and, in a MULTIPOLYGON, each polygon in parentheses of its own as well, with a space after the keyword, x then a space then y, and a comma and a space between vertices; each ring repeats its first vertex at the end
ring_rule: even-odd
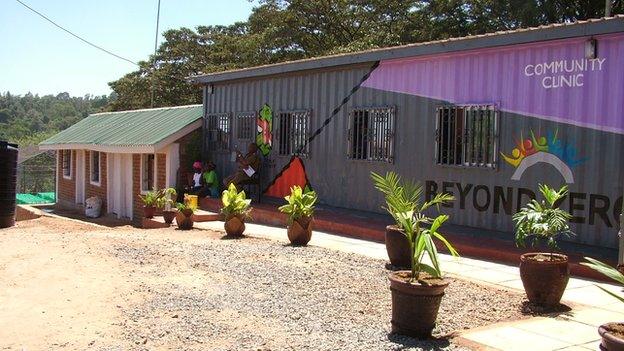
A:
POLYGON ((585 162, 585 158, 578 158, 576 148, 557 137, 558 130, 548 132, 546 136, 536 136, 533 130, 531 137, 524 139, 520 132, 520 139, 516 140, 516 147, 507 156, 501 152, 505 162, 516 167, 511 176, 512 180, 520 180, 522 174, 529 167, 538 163, 548 163, 555 167, 568 184, 574 183, 572 168, 585 162))

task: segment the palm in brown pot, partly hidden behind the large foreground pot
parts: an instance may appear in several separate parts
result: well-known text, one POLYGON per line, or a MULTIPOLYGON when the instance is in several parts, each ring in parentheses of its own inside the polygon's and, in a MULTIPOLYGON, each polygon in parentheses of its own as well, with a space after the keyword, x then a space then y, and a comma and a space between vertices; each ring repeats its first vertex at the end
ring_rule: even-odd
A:
POLYGON ((395 213, 390 210, 388 201, 391 196, 397 198, 394 200, 396 213, 414 211, 414 206, 422 195, 422 191, 420 191, 422 188, 418 187, 414 182, 402 182, 400 177, 394 172, 386 173, 385 177, 371 172, 371 178, 373 179, 375 188, 385 197, 386 206, 382 208, 388 211, 395 222, 394 224, 386 226, 385 244, 390 264, 401 268, 410 267, 412 259, 409 244, 402 231, 401 222, 395 213), (399 188, 402 190, 399 191, 399 188))

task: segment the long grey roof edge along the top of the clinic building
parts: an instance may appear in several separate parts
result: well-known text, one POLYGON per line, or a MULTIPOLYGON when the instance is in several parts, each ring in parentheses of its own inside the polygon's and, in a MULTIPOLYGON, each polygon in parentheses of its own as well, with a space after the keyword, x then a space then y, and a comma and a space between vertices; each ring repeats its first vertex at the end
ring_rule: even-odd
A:
POLYGON ((195 84, 211 84, 236 79, 284 74, 295 71, 375 62, 379 60, 399 59, 453 51, 526 44, 531 42, 568 39, 617 32, 624 32, 624 15, 615 15, 613 17, 589 19, 572 23, 556 23, 510 31, 499 31, 494 33, 372 49, 347 54, 321 56, 297 61, 191 76, 187 77, 187 80, 195 84))

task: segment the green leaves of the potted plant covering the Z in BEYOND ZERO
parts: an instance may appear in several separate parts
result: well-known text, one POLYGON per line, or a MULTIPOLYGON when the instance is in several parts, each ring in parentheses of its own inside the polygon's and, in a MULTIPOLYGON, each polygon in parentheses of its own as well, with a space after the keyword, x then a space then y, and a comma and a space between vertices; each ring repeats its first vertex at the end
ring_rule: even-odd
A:
POLYGON ((557 239, 562 235, 571 235, 569 221, 572 217, 558 207, 559 202, 568 194, 568 187, 562 186, 555 190, 545 184, 539 185, 542 201, 531 200, 526 207, 513 215, 516 224, 516 245, 525 247, 530 241, 531 246, 546 241, 550 249, 550 260, 553 252, 559 249, 557 239))

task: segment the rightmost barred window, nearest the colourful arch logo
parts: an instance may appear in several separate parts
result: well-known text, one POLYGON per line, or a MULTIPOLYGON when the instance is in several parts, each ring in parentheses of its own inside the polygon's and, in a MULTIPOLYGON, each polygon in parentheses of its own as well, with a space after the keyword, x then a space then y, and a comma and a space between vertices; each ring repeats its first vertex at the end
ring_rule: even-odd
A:
POLYGON ((498 158, 495 106, 438 107, 435 153, 439 165, 495 168, 498 158))

